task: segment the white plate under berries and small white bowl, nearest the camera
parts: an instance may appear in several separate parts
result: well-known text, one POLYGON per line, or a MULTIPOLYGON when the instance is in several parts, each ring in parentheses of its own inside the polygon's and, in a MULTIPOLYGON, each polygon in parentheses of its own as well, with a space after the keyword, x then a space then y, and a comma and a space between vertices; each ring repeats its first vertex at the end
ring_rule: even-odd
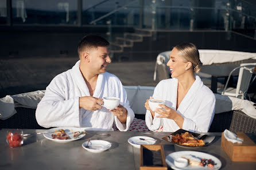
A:
POLYGON ((168 164, 172 169, 176 169, 176 170, 190 170, 190 169, 211 169, 211 170, 217 170, 220 167, 222 167, 222 162, 216 158, 215 156, 209 155, 207 153, 203 153, 203 152, 196 152, 196 151, 180 151, 180 152, 173 152, 170 153, 168 156, 166 156, 165 158, 166 164, 168 164), (184 168, 178 168, 174 165, 174 160, 178 159, 181 156, 185 156, 185 155, 193 155, 195 157, 199 157, 200 159, 211 159, 214 161, 214 163, 216 165, 214 165, 213 168, 209 168, 209 167, 201 167, 201 166, 191 166, 188 165, 187 167, 184 168))

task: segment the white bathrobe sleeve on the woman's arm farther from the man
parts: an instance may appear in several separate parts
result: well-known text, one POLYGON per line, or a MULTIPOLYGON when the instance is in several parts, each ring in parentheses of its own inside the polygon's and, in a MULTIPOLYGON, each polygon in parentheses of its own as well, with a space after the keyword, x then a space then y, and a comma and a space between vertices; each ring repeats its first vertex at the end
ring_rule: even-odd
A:
POLYGON ((205 100, 205 97, 201 98, 201 105, 192 119, 184 117, 183 129, 191 132, 208 132, 215 114, 214 94, 205 100))

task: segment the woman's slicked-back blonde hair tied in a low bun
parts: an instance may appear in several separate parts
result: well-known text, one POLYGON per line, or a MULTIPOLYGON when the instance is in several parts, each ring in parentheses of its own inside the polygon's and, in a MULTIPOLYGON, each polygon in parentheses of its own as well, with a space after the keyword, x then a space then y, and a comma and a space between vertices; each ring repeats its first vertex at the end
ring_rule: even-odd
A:
POLYGON ((175 46, 179 51, 179 56, 182 56, 184 58, 185 62, 191 62, 193 72, 199 73, 203 63, 200 61, 199 52, 196 46, 192 43, 183 43, 175 46))

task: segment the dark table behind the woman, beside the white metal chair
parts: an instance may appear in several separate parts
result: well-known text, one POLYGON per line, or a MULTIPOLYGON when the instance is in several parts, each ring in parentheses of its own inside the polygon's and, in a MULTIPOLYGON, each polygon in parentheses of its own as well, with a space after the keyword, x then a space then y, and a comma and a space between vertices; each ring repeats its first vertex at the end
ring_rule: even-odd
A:
MULTIPOLYGON (((225 77, 227 78, 230 72, 238 67, 239 64, 219 64, 219 65, 205 65, 202 67, 201 72, 211 74, 211 90, 214 93, 217 93, 217 83, 218 78, 225 77)), ((232 73, 232 76, 238 76, 239 69, 235 70, 232 73)), ((232 78, 230 79, 230 83, 232 78)))

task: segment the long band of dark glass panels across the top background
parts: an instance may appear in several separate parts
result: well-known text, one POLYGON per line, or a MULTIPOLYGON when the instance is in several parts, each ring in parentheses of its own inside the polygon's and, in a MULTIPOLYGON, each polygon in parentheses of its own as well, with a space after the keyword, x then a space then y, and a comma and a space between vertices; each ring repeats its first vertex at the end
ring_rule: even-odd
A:
POLYGON ((256 38, 256 6, 243 0, 0 0, 0 25, 232 30, 256 38))

